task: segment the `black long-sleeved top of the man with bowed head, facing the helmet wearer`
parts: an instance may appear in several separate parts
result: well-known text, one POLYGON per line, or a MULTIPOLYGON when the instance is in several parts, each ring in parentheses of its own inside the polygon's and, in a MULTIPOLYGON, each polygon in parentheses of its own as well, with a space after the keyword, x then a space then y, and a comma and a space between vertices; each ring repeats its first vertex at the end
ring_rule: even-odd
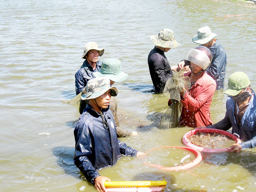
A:
POLYGON ((149 52, 148 67, 154 85, 154 92, 163 93, 166 81, 172 78, 172 69, 162 50, 154 47, 149 52))

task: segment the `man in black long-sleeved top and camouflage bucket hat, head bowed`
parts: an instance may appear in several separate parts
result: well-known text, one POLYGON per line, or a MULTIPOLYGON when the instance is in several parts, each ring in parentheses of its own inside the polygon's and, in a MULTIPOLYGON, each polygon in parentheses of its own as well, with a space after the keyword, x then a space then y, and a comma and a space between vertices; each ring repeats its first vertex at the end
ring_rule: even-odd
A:
POLYGON ((150 40, 156 46, 148 54, 149 73, 154 92, 163 93, 166 81, 172 78, 172 69, 164 52, 180 44, 175 40, 174 32, 168 28, 162 29, 158 35, 150 36, 150 40))

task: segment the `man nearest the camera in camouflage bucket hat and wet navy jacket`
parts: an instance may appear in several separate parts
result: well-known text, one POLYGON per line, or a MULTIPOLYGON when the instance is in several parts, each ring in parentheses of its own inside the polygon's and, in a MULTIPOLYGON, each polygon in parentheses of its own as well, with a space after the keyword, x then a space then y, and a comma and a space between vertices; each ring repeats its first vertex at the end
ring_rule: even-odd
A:
POLYGON ((108 177, 99 175, 98 169, 113 166, 122 155, 140 156, 139 152, 117 139, 113 115, 109 110, 111 96, 118 90, 110 86, 110 80, 94 78, 87 82, 86 93, 81 99, 89 99, 89 104, 81 114, 74 130, 76 140, 74 163, 87 181, 105 192, 108 177))

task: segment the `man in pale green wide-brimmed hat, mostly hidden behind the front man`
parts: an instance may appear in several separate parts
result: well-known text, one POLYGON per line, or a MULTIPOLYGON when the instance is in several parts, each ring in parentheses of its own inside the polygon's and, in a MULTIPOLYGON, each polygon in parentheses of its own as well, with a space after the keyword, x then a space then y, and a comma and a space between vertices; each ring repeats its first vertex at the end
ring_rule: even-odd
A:
MULTIPOLYGON (((121 61, 119 61, 119 59, 116 59, 116 58, 103 59, 100 72, 94 72, 93 75, 95 77, 105 77, 110 79, 111 86, 115 82, 118 82, 118 83, 122 82, 128 77, 128 74, 122 72, 121 70, 121 61)), ((82 94, 84 94, 84 92, 85 90, 82 91, 82 94)), ((86 102, 81 99, 80 106, 79 106, 80 114, 84 111, 85 106, 86 106, 86 102)), ((130 135, 137 135, 136 131, 123 130, 119 127, 119 119, 117 116, 117 102, 115 97, 111 97, 110 99, 110 110, 113 113, 114 120, 116 123, 117 137, 128 137, 130 135)))

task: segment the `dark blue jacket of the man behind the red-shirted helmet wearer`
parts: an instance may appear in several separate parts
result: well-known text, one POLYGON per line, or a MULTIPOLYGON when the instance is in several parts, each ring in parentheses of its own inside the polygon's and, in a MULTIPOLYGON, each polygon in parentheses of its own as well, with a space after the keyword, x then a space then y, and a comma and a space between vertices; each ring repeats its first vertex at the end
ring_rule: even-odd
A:
POLYGON ((227 67, 226 52, 218 40, 209 49, 212 52, 212 62, 206 71, 216 81, 216 90, 223 89, 227 67))

